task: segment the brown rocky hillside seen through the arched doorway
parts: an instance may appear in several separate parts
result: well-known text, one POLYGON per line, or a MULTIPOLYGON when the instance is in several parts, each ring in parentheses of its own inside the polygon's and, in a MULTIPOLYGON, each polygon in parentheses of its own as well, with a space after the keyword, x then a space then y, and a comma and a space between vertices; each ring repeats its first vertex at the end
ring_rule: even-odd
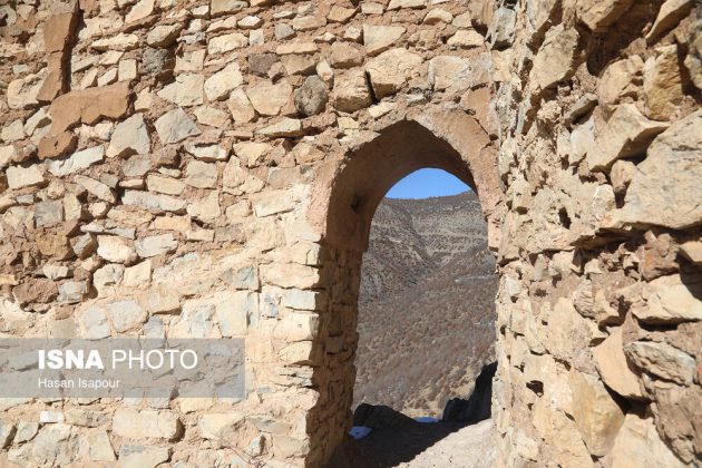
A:
POLYGON ((359 298, 354 407, 441 416, 494 359, 497 276, 474 193, 387 198, 371 227, 359 298))

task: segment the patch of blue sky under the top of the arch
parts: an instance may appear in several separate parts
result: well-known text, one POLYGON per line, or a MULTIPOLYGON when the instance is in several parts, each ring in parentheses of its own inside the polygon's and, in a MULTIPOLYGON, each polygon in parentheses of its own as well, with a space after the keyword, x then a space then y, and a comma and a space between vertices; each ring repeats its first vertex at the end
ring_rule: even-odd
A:
POLYGON ((431 196, 456 195, 470 187, 441 169, 419 169, 388 191, 388 198, 428 198, 431 196))

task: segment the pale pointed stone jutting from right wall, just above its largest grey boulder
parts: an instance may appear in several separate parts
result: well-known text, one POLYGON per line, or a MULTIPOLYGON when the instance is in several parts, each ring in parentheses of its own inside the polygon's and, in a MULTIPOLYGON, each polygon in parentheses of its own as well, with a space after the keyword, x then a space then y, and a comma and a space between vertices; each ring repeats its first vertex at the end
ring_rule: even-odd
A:
POLYGON ((610 117, 607 127, 587 152, 593 170, 603 170, 615 160, 643 153, 667 125, 645 118, 632 104, 623 104, 610 117))

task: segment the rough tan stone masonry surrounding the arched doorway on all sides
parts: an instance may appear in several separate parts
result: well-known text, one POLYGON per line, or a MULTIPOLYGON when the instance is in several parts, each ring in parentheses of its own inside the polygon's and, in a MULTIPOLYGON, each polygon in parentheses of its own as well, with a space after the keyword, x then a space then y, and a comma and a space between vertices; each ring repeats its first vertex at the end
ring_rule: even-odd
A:
POLYGON ((701 464, 701 10, 3 2, 2 337, 244 338, 247 394, 0 399, 0 465, 320 466, 370 221, 421 167, 498 259, 498 464, 701 464))

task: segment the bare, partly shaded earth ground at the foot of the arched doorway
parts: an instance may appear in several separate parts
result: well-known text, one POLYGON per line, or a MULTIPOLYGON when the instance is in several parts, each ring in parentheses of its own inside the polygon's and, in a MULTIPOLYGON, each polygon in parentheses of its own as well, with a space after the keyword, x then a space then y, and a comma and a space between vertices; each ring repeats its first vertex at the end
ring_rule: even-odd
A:
POLYGON ((496 451, 491 420, 471 426, 413 423, 374 429, 361 440, 347 440, 328 468, 489 468, 496 451))

